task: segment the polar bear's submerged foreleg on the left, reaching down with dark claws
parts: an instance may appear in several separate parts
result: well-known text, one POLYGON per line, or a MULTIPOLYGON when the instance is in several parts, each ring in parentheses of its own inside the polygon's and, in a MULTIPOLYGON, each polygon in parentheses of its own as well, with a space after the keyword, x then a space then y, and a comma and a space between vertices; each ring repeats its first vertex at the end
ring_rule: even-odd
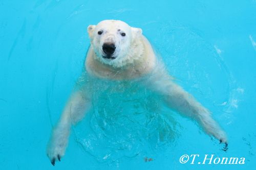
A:
POLYGON ((71 94, 48 143, 47 155, 53 165, 65 154, 72 124, 79 122, 89 107, 90 100, 84 97, 82 91, 71 94))

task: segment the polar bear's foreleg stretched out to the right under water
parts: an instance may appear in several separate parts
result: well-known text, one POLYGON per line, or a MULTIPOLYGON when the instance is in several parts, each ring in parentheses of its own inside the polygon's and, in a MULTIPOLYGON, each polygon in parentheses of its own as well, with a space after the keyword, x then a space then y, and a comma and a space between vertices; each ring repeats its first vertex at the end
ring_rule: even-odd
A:
POLYGON ((164 68, 156 69, 146 86, 160 93, 168 106, 186 117, 195 119, 203 130, 227 145, 227 137, 210 112, 188 92, 172 81, 164 68))

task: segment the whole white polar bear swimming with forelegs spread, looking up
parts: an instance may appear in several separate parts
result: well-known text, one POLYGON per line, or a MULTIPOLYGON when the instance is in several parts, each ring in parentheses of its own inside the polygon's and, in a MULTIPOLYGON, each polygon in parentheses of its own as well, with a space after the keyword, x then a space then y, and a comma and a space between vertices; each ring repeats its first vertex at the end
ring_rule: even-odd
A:
POLYGON ((141 83, 161 95, 169 108, 196 120, 208 135, 227 147, 225 132, 206 108, 174 83, 141 29, 120 20, 103 20, 97 26, 90 25, 88 33, 91 45, 85 61, 86 74, 81 76, 83 83, 72 92, 48 143, 47 155, 53 165, 65 154, 71 126, 84 117, 91 106, 92 95, 100 91, 92 83, 95 80, 106 84, 141 83))

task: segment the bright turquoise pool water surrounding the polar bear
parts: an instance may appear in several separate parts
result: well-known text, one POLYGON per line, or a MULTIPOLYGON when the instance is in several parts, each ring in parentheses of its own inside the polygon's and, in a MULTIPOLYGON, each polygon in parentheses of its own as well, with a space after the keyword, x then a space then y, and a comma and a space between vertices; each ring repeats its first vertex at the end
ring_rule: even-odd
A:
MULTIPOLYGON (((1 1, 0 11, 0 169, 255 169, 255 0, 1 1), (51 165, 46 145, 82 72, 87 27, 104 19, 143 30, 176 82, 226 131, 226 152, 132 87, 129 105, 94 106, 51 165), (181 164, 184 154, 245 157, 245 164, 181 164)), ((126 96, 115 95, 114 103, 126 96)))

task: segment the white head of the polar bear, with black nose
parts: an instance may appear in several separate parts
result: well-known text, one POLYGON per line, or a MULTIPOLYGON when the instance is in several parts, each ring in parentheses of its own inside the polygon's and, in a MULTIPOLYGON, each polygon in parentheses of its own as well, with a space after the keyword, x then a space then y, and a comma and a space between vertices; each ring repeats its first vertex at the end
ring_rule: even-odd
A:
POLYGON ((88 27, 95 57, 102 63, 122 67, 141 55, 139 37, 142 30, 120 20, 103 20, 88 27), (138 54, 136 54, 138 53, 138 54))

